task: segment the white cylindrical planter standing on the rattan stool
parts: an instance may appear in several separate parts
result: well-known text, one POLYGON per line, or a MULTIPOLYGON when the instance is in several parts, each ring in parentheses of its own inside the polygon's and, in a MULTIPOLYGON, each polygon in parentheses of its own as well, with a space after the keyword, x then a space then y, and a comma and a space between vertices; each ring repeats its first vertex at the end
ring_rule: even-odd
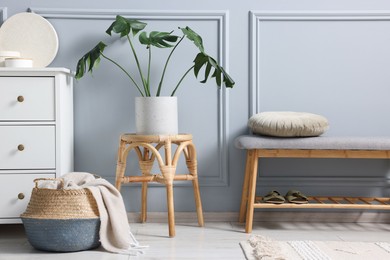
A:
POLYGON ((177 97, 136 97, 135 127, 139 135, 177 134, 177 97))

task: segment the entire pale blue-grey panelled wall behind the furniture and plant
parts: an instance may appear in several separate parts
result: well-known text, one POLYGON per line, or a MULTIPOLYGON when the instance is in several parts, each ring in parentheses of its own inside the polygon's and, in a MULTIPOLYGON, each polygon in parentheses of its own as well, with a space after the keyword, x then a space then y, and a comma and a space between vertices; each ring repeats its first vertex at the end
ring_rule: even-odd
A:
MULTIPOLYGON (((252 113, 314 112, 329 119, 328 135, 389 135, 388 1, 1 0, 0 7, 6 7, 8 17, 27 8, 46 17, 60 39, 51 66, 71 69, 105 38, 116 13, 145 20, 150 29, 196 29, 236 81, 234 89, 225 91, 187 78, 178 93, 180 131, 193 133, 198 149, 205 211, 238 210, 245 154, 233 140, 247 132, 252 113), (378 12, 384 15, 378 18, 378 12), (291 18, 296 16, 301 18, 291 18)), ((195 54, 191 45, 181 47, 168 82, 192 59, 180 57, 195 54)), ((108 53, 126 62, 126 48, 118 42, 108 53)), ((136 95, 106 62, 93 77, 75 82, 75 170, 114 180, 119 135, 134 131, 136 95)), ((134 171, 136 162, 130 160, 128 173, 134 171)), ((269 159, 260 171, 260 194, 298 188, 309 195, 389 196, 384 160, 269 159)), ((191 187, 179 184, 174 192, 175 210, 194 210, 191 187)), ((138 186, 123 189, 129 211, 139 209, 139 194, 138 186)), ((153 186, 150 210, 164 211, 165 205, 165 189, 153 186)))

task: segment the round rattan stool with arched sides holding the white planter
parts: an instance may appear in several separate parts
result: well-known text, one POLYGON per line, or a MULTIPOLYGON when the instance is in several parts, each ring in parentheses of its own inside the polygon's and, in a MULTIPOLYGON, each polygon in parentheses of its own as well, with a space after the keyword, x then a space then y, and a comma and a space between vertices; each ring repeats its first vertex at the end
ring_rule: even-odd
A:
POLYGON ((141 222, 146 222, 148 182, 164 184, 167 189, 169 236, 175 236, 175 216, 173 203, 173 181, 192 181, 199 226, 204 225, 200 199, 195 145, 191 134, 179 135, 136 135, 123 134, 120 137, 115 186, 120 190, 123 183, 141 182, 141 222), (177 145, 172 157, 172 144, 177 145), (160 155, 164 147, 165 158, 160 155), (142 149, 143 148, 143 149, 142 149), (138 155, 142 176, 124 176, 128 153, 134 149, 138 155), (176 175, 176 166, 181 153, 184 153, 189 174, 176 175), (157 160, 161 174, 151 174, 157 160))

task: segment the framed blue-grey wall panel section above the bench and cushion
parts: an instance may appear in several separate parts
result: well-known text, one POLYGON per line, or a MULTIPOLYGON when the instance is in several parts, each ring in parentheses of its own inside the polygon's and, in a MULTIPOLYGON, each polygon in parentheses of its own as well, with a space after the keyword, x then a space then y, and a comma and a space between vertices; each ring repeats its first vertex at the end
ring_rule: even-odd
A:
POLYGON ((252 113, 318 112, 328 134, 388 134, 389 13, 252 12, 251 25, 252 113))

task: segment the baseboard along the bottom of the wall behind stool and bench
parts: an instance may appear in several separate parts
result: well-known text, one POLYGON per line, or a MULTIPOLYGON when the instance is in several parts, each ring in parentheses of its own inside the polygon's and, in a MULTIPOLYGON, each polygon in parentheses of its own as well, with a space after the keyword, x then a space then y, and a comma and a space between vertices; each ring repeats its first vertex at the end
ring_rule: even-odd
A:
MULTIPOLYGON (((238 212, 204 212, 207 222, 238 222, 238 212)), ((139 213, 128 213, 131 222, 139 222, 139 213)), ((168 221, 166 212, 148 213, 147 222, 164 223, 168 221)), ((195 212, 176 212, 177 223, 197 222, 195 212)), ((390 212, 291 212, 263 211, 255 212, 256 222, 322 222, 322 223, 390 223, 390 212)))

